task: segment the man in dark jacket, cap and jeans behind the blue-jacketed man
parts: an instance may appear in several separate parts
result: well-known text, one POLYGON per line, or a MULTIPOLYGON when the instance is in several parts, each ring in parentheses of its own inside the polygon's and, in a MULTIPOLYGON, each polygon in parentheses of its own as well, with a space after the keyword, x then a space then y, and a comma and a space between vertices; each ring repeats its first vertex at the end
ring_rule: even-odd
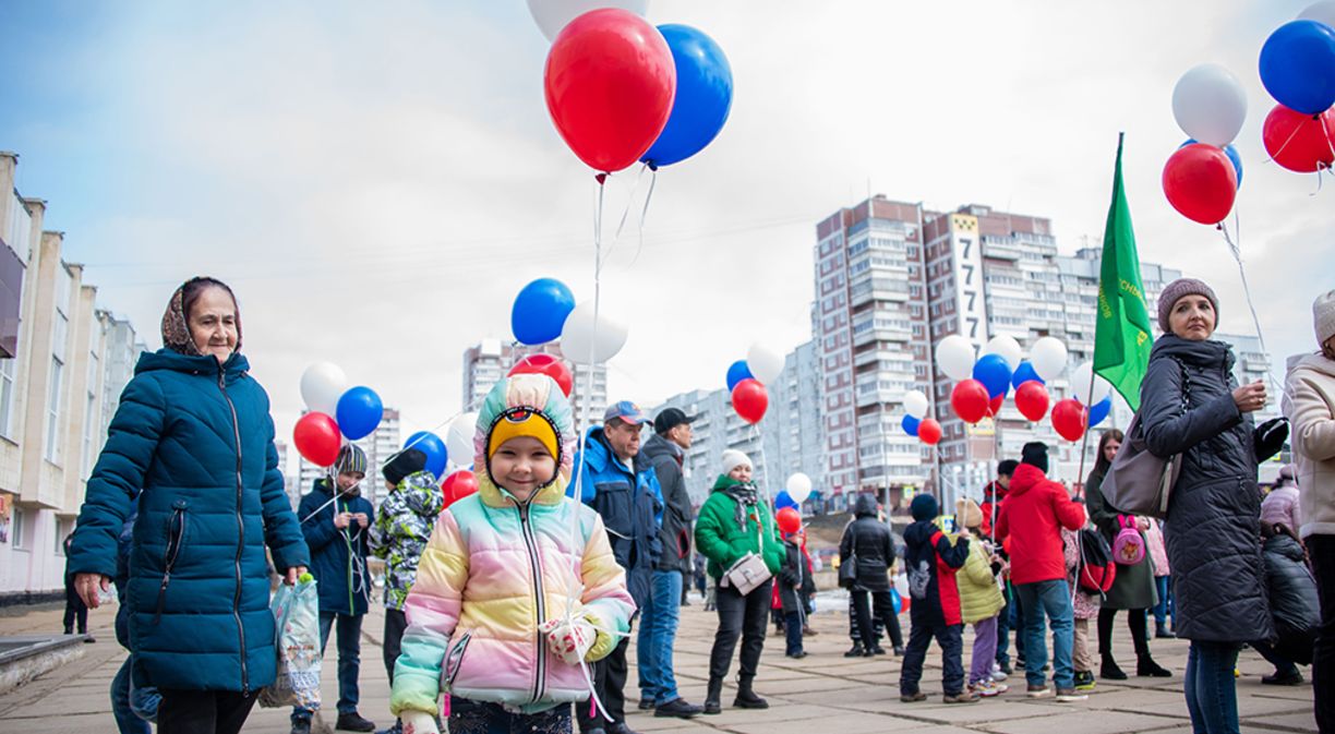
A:
POLYGON ((680 408, 663 408, 654 419, 654 435, 635 456, 639 472, 651 471, 662 491, 663 510, 658 530, 662 544, 653 570, 653 594, 647 606, 639 607, 638 667, 639 707, 654 709, 655 717, 689 718, 704 711, 677 693, 673 674, 673 646, 681 611, 682 589, 690 562, 690 520, 693 510, 681 464, 684 448, 690 448, 690 423, 680 408))

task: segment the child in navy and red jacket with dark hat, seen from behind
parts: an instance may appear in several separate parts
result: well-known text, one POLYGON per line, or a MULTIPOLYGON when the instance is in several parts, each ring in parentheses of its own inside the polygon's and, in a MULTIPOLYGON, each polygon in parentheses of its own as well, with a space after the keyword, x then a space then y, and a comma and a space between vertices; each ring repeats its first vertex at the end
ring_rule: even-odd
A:
POLYGON ((976 703, 979 698, 964 690, 964 619, 960 613, 960 587, 955 573, 969 559, 968 531, 959 540, 933 523, 940 506, 929 494, 920 494, 909 504, 913 524, 904 531, 904 565, 909 571, 909 645, 900 671, 900 701, 926 701, 918 690, 922 662, 932 638, 941 646, 941 686, 947 703, 976 703))

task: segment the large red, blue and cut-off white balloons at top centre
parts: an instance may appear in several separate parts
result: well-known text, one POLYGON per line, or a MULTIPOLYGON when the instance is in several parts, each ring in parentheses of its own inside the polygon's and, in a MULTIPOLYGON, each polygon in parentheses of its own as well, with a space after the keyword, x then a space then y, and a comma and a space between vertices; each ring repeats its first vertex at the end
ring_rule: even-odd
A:
MULTIPOLYGON (((646 0, 529 0, 551 49, 547 111, 599 173, 682 161, 718 135, 733 101, 724 51, 689 25, 654 28, 646 0)), ((601 180, 601 179, 599 179, 601 180)))

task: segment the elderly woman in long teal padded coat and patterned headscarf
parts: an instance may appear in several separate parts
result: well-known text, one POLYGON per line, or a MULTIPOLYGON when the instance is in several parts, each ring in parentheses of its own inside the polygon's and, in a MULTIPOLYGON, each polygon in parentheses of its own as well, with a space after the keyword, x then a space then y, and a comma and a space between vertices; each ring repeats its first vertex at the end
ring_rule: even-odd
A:
POLYGON ((164 734, 242 729, 278 673, 266 547, 288 585, 310 563, 240 324, 220 280, 172 294, 163 348, 139 358, 120 396, 68 557, 96 609, 138 506, 127 605, 135 670, 159 686, 164 734))

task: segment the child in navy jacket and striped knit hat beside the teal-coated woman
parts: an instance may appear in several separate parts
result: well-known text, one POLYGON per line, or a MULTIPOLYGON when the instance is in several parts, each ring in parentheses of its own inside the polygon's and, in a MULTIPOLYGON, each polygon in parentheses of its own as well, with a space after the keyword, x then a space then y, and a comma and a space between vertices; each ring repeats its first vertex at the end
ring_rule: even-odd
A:
MULTIPOLYGON (((338 723, 344 731, 375 731, 356 713, 360 673, 362 619, 370 606, 371 577, 366 570, 367 527, 375 508, 362 496, 366 454, 356 446, 339 448, 330 468, 334 476, 316 479, 302 498, 296 516, 311 550, 311 574, 320 595, 320 655, 330 630, 338 626, 338 723), (338 492, 335 494, 335 487, 338 492)), ((312 711, 292 709, 292 734, 310 734, 312 711)))

